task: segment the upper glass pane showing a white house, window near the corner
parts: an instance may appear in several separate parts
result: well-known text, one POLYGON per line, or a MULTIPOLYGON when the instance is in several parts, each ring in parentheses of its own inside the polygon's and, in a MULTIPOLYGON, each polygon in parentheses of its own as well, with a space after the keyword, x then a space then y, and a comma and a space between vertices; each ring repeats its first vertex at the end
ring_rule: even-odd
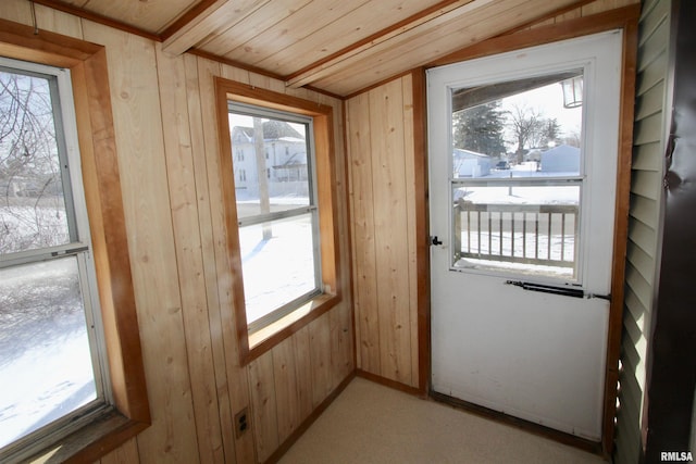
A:
POLYGON ((307 124, 229 113, 237 216, 310 204, 307 124))

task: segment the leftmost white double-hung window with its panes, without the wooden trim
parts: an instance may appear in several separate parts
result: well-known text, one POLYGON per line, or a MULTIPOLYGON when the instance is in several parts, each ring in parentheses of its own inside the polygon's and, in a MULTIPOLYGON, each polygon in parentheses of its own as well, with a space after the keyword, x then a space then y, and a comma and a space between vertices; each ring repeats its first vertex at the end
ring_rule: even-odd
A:
POLYGON ((0 59, 0 461, 110 391, 69 70, 0 59))

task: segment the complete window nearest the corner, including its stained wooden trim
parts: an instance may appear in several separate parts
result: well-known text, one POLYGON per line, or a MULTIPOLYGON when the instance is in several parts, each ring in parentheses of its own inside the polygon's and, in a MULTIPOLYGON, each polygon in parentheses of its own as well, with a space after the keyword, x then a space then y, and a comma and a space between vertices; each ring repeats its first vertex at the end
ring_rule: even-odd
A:
POLYGON ((216 86, 232 291, 247 362, 340 299, 333 113, 222 78, 216 86), (293 154, 270 156, 275 145, 293 154), (249 153, 244 188, 234 183, 237 149, 249 153))

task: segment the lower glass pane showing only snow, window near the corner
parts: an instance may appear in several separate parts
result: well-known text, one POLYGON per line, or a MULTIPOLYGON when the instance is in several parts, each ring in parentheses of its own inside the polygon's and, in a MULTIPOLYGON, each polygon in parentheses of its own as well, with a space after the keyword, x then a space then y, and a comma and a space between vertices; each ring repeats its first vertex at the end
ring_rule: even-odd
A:
POLYGON ((247 323, 316 289, 314 214, 239 228, 247 323))

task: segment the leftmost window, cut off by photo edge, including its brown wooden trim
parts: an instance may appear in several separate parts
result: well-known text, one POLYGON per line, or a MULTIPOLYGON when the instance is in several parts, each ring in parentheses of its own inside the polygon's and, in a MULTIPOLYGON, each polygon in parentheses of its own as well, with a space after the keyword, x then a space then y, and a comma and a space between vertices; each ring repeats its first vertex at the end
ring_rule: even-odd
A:
MULTIPOLYGON (((11 440, 1 447, 0 461, 25 462, 50 454, 55 462, 94 462, 150 423, 133 278, 124 252, 128 244, 104 49, 46 30, 37 36, 33 27, 3 20, 0 29, 4 58, 22 60, 3 61, 3 91, 16 81, 15 96, 37 98, 12 103, 11 97, 10 103, 2 103, 1 117, 14 121, 7 104, 24 105, 30 110, 17 113, 24 117, 20 120, 24 128, 41 129, 17 133, 7 125, 0 129, 0 200, 4 201, 0 205, 4 229, 0 234, 4 240, 0 298, 13 299, 11 304, 0 304, 0 324, 7 327, 7 310, 32 316, 50 312, 55 317, 49 329, 70 334, 50 355, 59 358, 71 347, 82 355, 71 354, 70 372, 59 369, 67 375, 59 387, 67 391, 71 383, 84 386, 73 390, 70 399, 61 398, 58 389, 50 391, 52 403, 37 397, 33 407, 46 414, 44 419, 33 417, 10 432, 14 426, 2 428, 0 424, 0 435, 11 440), (75 111, 71 111, 73 102, 75 111), (61 308, 53 304, 58 301, 61 308), (78 328, 83 324, 84 330, 78 328), (70 406, 62 410, 58 405, 70 406)), ((25 337, 32 330, 42 334, 41 341, 57 341, 50 330, 44 330, 40 317, 17 321, 24 324, 22 330, 3 328, 0 334, 4 356, 16 358, 21 350, 24 355, 37 354, 36 346, 25 337), (15 352, 8 354, 10 334, 25 338, 15 338, 15 352)), ((49 371, 41 361, 48 361, 45 354, 36 356, 30 372, 40 373, 40 384, 48 385, 49 371)), ((9 388, 4 384, 11 367, 21 373, 11 374, 13 380, 30 374, 24 368, 26 363, 20 365, 0 366, 5 369, 0 374, 0 388, 9 388)), ((27 388, 25 393, 30 391, 27 388)), ((8 401, 0 415, 9 411, 5 404, 15 410, 22 406, 10 404, 4 393, 0 401, 8 401)), ((2 423, 10 419, 15 421, 0 416, 2 423)))

